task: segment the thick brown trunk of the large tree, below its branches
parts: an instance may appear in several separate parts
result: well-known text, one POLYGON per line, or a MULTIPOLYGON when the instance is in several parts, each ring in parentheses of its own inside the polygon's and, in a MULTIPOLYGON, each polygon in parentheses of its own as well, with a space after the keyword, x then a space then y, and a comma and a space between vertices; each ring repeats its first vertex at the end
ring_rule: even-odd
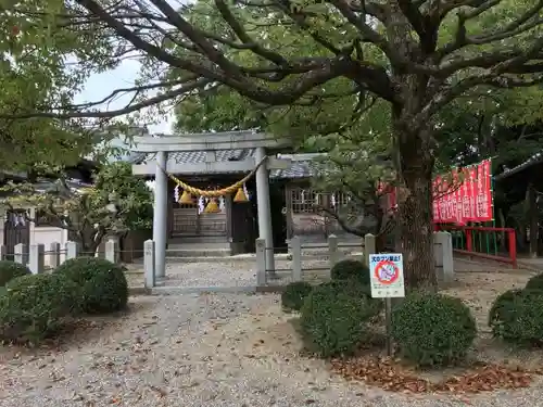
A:
POLYGON ((404 255, 405 282, 409 289, 434 291, 437 288, 433 257, 432 168, 433 154, 429 147, 431 131, 406 127, 393 118, 400 153, 400 175, 403 183, 399 200, 399 226, 404 255))

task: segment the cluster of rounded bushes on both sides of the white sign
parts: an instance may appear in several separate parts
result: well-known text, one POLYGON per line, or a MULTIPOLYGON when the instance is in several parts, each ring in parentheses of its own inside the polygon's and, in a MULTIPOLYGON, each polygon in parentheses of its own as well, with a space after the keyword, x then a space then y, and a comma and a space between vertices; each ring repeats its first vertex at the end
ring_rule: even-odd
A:
MULTIPOLYGON (((315 288, 292 283, 282 294, 285 309, 301 311, 305 345, 321 357, 355 353, 382 309, 382 302, 371 297, 369 270, 362 262, 339 262, 331 277, 315 288)), ((463 359, 477 334, 469 308, 439 294, 407 296, 393 308, 392 323, 401 356, 418 365, 463 359)))

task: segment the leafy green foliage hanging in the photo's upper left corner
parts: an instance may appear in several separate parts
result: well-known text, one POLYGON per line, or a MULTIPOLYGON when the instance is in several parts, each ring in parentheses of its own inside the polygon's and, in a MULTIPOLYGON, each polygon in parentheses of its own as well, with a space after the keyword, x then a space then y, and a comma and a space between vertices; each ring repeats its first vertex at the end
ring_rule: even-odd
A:
MULTIPOLYGON (((0 116, 58 110, 70 104, 89 76, 89 54, 103 55, 108 41, 60 27, 61 1, 28 1, 33 15, 0 1, 0 116), (70 55, 70 56, 68 56, 70 55)), ((111 48, 109 48, 111 50, 111 48)), ((73 165, 90 153, 98 135, 87 120, 51 117, 0 118, 0 168, 3 170, 73 165)))

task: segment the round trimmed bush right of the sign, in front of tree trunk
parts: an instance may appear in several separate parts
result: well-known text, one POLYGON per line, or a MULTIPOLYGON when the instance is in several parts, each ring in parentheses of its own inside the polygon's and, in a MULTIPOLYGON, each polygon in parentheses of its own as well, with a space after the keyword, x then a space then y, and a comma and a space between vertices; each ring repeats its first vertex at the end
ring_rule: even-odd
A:
POLYGON ((392 310, 392 338, 400 354, 419 366, 463 360, 476 335, 476 321, 458 298, 417 293, 392 310))

